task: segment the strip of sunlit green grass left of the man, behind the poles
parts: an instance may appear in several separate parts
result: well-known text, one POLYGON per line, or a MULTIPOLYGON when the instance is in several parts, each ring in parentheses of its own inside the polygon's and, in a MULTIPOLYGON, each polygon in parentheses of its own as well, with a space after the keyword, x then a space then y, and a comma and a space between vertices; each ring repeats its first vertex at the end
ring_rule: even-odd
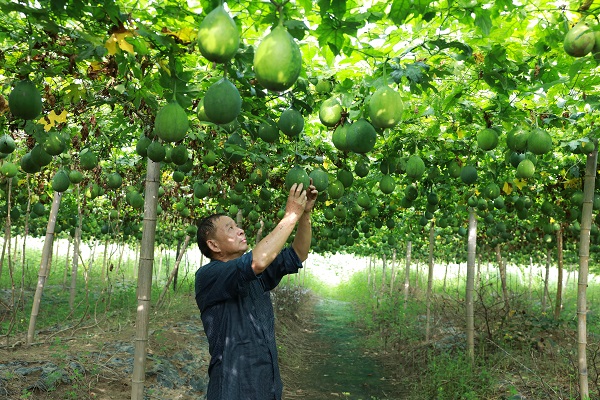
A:
MULTIPOLYGON (((0 277, 0 288, 3 288, 0 290, 0 301, 2 302, 0 304, 3 308, 0 310, 0 335, 18 336, 28 329, 41 259, 39 243, 37 246, 33 244, 27 249, 24 268, 20 262, 20 254, 17 252, 16 257, 13 257, 13 260, 18 260, 18 262, 13 262, 15 264, 13 281, 10 279, 5 261, 0 277), (11 289, 13 287, 14 290, 11 289), (10 306, 11 304, 13 307, 10 306)), ((121 265, 117 266, 118 254, 113 248, 112 257, 109 252, 110 258, 106 264, 113 264, 113 271, 109 272, 107 279, 102 273, 104 263, 102 248, 96 249, 93 256, 90 254, 91 249, 88 249, 84 261, 79 262, 77 288, 73 309, 71 309, 69 304, 72 254, 67 254, 66 250, 67 245, 64 242, 55 246, 50 275, 44 285, 36 330, 58 332, 67 328, 77 329, 89 326, 102 320, 110 320, 111 323, 130 323, 132 319, 135 319, 134 312, 137 305, 135 257, 131 254, 129 257, 123 257, 121 265), (87 282, 85 280, 86 269, 87 282)), ((133 250, 129 249, 129 251, 133 250)), ((161 276, 163 278, 160 284, 154 279, 153 300, 158 300, 162 286, 167 279, 167 272, 170 272, 175 264, 173 254, 161 256, 159 252, 157 253, 155 263, 159 264, 162 261, 161 276)), ((193 287, 190 279, 193 273, 190 271, 189 265, 184 267, 180 270, 179 290, 189 292, 193 287)))

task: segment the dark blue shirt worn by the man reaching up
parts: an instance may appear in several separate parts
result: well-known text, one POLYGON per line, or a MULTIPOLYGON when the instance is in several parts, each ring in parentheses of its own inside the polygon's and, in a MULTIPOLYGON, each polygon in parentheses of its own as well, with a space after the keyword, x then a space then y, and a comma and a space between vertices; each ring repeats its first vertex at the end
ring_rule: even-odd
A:
POLYGON ((288 247, 259 275, 252 270, 252 252, 212 260, 196 272, 196 303, 211 355, 207 400, 281 399, 269 291, 301 267, 288 247))

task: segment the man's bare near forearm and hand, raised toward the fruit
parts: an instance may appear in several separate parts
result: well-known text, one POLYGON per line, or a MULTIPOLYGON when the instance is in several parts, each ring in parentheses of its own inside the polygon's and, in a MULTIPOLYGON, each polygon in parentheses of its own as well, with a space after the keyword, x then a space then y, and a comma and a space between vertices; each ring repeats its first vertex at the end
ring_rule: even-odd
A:
POLYGON ((306 203, 306 190, 302 188, 302 184, 292 185, 285 205, 285 215, 275 229, 258 242, 252 250, 252 269, 255 274, 263 272, 283 249, 296 224, 301 219, 306 203))

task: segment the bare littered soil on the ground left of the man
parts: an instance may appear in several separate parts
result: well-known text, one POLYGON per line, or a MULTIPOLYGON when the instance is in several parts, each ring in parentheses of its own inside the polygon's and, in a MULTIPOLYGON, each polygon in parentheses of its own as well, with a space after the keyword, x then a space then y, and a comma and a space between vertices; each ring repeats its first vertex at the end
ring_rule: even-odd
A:
MULTIPOLYGON (((188 311, 167 308, 151 316, 148 399, 198 399, 203 394, 196 390, 203 383, 191 382, 195 389, 192 374, 186 373, 196 367, 195 379, 201 381, 209 360, 197 308, 188 297, 188 311)), ((13 336, 8 346, 0 347, 0 399, 129 399, 134 338, 135 320, 115 324, 110 318, 89 318, 74 329, 43 330, 29 347, 24 334, 13 336), (55 382, 45 375, 48 371, 58 375, 55 382)))

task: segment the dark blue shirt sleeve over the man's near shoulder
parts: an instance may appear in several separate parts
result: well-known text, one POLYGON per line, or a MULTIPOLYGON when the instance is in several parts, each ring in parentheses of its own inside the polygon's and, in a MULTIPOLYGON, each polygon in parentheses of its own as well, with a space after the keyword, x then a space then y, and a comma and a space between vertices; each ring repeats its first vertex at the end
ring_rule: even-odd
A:
POLYGON ((252 252, 227 261, 212 261, 196 272, 196 304, 200 312, 238 296, 245 296, 247 283, 255 280, 252 252))

